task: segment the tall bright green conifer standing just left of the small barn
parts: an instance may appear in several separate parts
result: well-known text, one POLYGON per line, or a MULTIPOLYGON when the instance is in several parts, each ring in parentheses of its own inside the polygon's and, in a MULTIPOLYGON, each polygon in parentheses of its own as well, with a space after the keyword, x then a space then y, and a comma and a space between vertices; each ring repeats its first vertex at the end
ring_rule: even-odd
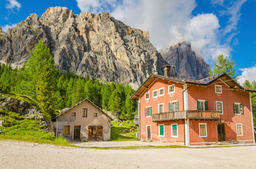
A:
POLYGON ((54 77, 56 73, 54 59, 42 39, 38 41, 30 54, 31 57, 25 63, 25 67, 32 82, 36 84, 38 105, 45 117, 50 118, 54 113, 54 77))

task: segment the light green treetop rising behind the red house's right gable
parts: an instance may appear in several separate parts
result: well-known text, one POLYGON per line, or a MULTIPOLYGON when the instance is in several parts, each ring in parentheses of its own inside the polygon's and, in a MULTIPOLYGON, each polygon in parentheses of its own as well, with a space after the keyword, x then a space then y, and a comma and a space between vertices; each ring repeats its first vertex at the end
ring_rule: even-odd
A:
POLYGON ((228 59, 227 56, 219 55, 214 60, 214 68, 209 72, 209 76, 227 73, 230 77, 236 78, 235 61, 228 59))

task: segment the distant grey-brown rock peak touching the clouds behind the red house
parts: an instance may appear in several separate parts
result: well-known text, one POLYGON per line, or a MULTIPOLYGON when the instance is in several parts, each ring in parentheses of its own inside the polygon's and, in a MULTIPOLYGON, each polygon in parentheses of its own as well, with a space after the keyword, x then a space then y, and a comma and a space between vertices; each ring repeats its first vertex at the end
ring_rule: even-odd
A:
POLYGON ((202 79, 209 75, 210 65, 192 51, 190 42, 180 42, 159 50, 164 60, 174 65, 177 77, 202 79))

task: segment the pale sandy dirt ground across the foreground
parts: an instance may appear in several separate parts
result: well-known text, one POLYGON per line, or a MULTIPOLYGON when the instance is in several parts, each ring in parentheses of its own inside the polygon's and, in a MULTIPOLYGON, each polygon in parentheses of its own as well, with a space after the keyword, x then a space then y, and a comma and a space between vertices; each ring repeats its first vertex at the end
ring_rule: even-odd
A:
POLYGON ((255 159, 256 146, 102 150, 0 141, 0 168, 255 168, 255 159))

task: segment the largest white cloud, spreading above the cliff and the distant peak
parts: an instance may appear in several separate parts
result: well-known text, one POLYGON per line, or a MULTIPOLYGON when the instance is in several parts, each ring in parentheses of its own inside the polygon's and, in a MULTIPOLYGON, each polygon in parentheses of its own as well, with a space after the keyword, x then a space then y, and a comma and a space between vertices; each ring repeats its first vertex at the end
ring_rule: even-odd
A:
MULTIPOLYGON (((246 0, 232 1, 223 15, 228 15, 228 26, 221 29, 219 19, 214 14, 192 15, 197 4, 195 0, 76 0, 82 12, 110 12, 115 19, 125 24, 146 30, 150 42, 159 50, 180 41, 190 41, 197 54, 201 50, 206 60, 218 55, 229 56, 230 43, 237 34, 240 9, 246 0), (221 43, 223 38, 225 42, 221 43)), ((212 0, 212 5, 224 6, 224 0, 212 0)), ((237 44, 238 41, 233 42, 237 44)))

